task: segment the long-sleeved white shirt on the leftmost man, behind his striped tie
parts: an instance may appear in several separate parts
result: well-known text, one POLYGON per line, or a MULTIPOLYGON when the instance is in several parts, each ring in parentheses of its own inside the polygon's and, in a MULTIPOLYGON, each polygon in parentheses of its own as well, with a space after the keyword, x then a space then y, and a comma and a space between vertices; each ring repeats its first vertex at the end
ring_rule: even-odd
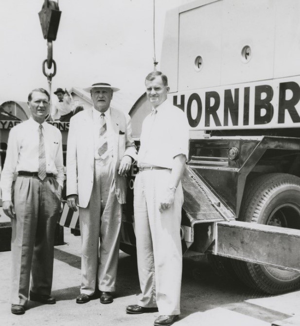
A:
MULTIPOLYGON (((38 172, 38 128, 39 123, 30 118, 13 127, 9 133, 0 180, 2 201, 11 200, 15 172, 38 172)), ((45 142, 46 172, 53 173, 58 184, 63 187, 64 164, 61 133, 47 122, 42 123, 42 132, 45 142)))

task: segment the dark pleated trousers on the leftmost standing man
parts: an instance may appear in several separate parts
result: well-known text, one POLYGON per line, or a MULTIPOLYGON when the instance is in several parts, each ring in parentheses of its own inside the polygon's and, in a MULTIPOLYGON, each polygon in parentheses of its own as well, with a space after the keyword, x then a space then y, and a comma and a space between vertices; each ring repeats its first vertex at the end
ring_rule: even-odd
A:
POLYGON ((13 188, 11 303, 25 305, 31 291, 50 295, 53 245, 61 200, 53 177, 18 176, 13 188))

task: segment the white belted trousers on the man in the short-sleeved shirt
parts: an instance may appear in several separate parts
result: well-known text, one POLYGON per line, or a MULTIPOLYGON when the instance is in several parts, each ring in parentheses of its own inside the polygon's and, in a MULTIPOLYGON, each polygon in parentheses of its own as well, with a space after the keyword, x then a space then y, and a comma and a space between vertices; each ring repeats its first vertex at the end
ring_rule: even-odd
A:
POLYGON ((138 305, 158 307, 160 315, 180 314, 182 249, 181 184, 173 205, 159 212, 159 200, 170 182, 170 170, 139 172, 134 185, 134 217, 141 294, 138 305))

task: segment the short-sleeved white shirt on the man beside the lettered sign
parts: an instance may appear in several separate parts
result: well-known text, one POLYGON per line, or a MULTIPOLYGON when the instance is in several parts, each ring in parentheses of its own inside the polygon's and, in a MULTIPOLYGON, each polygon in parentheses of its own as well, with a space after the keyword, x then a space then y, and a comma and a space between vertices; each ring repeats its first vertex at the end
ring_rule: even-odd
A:
POLYGON ((142 124, 138 166, 172 169, 176 155, 188 158, 188 120, 182 110, 167 100, 156 109, 157 113, 149 114, 142 124))

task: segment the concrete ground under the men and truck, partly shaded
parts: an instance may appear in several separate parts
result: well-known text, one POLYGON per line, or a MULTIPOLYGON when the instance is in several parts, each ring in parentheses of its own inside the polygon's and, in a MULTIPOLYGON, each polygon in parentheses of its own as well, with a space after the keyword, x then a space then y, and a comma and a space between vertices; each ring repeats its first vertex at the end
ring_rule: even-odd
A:
MULTIPOLYGON (((24 315, 10 312, 10 252, 0 253, 0 326, 147 326, 153 325, 158 312, 141 315, 125 313, 136 303, 139 292, 137 264, 134 257, 120 252, 118 284, 112 304, 99 299, 87 304, 75 303, 80 284, 80 237, 65 229, 65 244, 55 247, 53 296, 55 305, 29 301, 24 315)), ((274 321, 300 318, 300 292, 264 296, 240 283, 228 283, 214 275, 203 260, 184 258, 181 315, 176 326, 270 326, 274 321)), ((274 324, 274 325, 300 325, 274 324)))

